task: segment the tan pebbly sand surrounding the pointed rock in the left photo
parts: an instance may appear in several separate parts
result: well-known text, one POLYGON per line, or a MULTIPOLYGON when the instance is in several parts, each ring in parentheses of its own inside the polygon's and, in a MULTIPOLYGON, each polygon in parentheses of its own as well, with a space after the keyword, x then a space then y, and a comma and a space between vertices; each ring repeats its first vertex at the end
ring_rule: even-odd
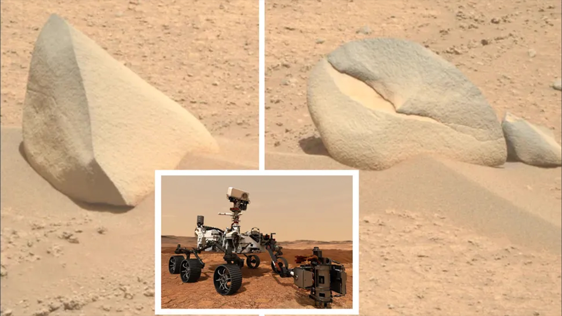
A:
POLYGON ((257 1, 1 1, 0 315, 154 315, 154 196, 75 204, 20 154, 30 53, 50 13, 200 118, 181 169, 258 168, 257 1))

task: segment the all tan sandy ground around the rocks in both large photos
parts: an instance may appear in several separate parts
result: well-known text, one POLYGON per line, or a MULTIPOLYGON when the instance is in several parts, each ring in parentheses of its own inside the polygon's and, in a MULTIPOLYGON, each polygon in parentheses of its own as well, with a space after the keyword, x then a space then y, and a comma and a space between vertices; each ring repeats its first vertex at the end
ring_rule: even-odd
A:
MULTIPOLYGON (((182 3, 0 2, 0 314, 154 314, 154 197, 129 211, 76 205, 19 153, 26 67, 49 12, 238 148, 229 159, 187 157, 183 168, 257 167, 246 154, 257 157, 257 2, 199 1, 178 11, 182 3)), ((510 110, 561 139, 561 94, 549 87, 562 71, 559 1, 266 5, 267 168, 346 169, 306 154, 321 152, 306 110, 306 75, 322 54, 368 36, 428 44, 482 89, 498 115, 510 110), (363 26, 372 33, 356 33, 363 26), (478 45, 482 39, 490 44, 478 45)), ((560 174, 429 158, 362 171, 360 314, 561 315, 560 174)))

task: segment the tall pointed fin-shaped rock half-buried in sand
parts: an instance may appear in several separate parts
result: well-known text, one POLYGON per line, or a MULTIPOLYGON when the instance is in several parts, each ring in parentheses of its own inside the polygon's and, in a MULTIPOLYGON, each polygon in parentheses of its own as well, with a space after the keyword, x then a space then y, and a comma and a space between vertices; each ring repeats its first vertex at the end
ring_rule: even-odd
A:
POLYGON ((57 15, 35 43, 22 133, 26 158, 49 183, 111 205, 137 205, 155 169, 219 150, 194 116, 57 15))

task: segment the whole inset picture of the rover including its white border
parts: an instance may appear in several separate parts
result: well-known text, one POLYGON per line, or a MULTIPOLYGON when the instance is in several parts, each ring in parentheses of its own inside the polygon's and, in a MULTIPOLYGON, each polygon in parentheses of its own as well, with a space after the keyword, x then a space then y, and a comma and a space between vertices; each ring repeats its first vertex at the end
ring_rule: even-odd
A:
POLYGON ((356 171, 157 172, 156 314, 359 313, 356 171))

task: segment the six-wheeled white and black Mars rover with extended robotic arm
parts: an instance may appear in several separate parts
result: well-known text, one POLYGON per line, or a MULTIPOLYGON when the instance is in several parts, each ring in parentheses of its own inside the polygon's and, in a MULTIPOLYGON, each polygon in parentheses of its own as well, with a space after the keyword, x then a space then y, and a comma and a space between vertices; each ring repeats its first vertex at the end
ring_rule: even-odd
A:
POLYGON ((310 291, 309 297, 315 301, 317 308, 329 308, 333 297, 346 295, 347 273, 345 267, 337 261, 322 256, 322 251, 314 247, 312 255, 296 256, 295 262, 301 264, 289 269, 288 262, 282 257, 283 247, 277 245, 273 238, 275 233, 263 234, 259 228, 241 232, 239 225, 242 211, 250 204, 250 193, 229 187, 226 197, 234 205, 231 213, 219 213, 232 218, 232 224, 226 229, 206 226, 204 216, 197 216, 197 247, 187 249, 178 245, 174 256, 169 261, 171 274, 179 274, 182 282, 197 282, 205 263, 199 256, 203 251, 220 251, 224 253, 225 264, 215 269, 213 282, 220 295, 233 295, 242 286, 242 268, 246 257, 249 269, 257 269, 261 261, 257 254, 267 252, 271 259, 271 270, 280 277, 292 277, 294 284, 310 291), (195 258, 191 258, 193 255, 195 258), (333 295, 332 292, 336 292, 333 295))

